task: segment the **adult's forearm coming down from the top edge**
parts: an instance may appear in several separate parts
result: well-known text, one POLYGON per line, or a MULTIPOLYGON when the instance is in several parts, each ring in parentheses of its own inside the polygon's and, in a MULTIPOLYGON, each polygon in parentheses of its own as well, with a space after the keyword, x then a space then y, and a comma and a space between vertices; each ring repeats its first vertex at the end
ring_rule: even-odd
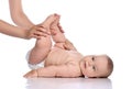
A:
POLYGON ((34 25, 24 14, 21 0, 9 0, 9 4, 11 18, 18 26, 30 29, 34 25))

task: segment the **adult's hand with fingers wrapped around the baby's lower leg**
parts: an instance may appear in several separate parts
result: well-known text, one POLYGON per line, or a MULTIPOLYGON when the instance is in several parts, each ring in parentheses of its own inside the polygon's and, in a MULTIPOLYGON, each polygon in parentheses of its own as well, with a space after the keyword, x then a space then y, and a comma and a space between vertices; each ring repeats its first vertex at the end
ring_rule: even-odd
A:
POLYGON ((26 37, 28 38, 41 38, 41 36, 47 36, 51 33, 42 25, 34 25, 33 27, 31 27, 28 33, 26 33, 26 37))

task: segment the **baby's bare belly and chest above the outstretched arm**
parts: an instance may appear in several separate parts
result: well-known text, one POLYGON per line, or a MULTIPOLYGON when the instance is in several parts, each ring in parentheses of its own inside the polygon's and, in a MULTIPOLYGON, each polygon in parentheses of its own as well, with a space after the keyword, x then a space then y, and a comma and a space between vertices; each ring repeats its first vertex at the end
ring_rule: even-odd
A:
POLYGON ((79 62, 81 57, 81 54, 77 52, 53 48, 45 59, 45 66, 79 62))

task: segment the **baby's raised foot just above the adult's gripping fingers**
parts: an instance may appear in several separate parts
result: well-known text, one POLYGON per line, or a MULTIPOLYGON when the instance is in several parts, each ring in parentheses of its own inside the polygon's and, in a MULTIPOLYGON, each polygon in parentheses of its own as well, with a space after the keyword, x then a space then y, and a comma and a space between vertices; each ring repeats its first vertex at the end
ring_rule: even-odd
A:
POLYGON ((46 20, 42 23, 42 26, 44 26, 47 31, 50 31, 50 25, 57 20, 59 16, 57 14, 51 14, 46 18, 46 20))

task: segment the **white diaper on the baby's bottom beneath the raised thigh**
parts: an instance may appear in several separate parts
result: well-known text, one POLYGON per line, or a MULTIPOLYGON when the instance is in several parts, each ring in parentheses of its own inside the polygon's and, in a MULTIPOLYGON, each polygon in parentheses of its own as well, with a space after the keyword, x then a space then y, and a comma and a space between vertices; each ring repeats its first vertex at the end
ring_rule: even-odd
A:
POLYGON ((30 67, 31 69, 37 69, 37 68, 44 67, 44 62, 38 63, 38 64, 35 64, 35 65, 29 64, 29 55, 30 55, 30 53, 31 53, 31 51, 29 51, 29 52, 26 53, 26 56, 25 56, 25 58, 26 58, 26 60, 28 60, 29 67, 30 67))

